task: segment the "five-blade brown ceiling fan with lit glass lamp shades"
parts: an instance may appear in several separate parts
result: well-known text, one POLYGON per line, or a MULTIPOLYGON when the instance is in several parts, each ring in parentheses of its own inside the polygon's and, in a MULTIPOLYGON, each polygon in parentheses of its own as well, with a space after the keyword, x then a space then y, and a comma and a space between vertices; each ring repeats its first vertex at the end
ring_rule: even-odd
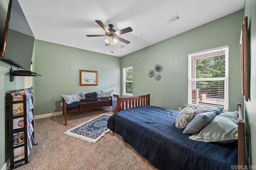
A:
POLYGON ((123 42, 123 43, 130 43, 129 41, 121 38, 121 37, 118 37, 119 35, 121 34, 125 34, 125 33, 128 33, 128 32, 132 32, 132 28, 130 27, 127 27, 127 28, 124 28, 122 30, 119 30, 119 31, 116 31, 113 29, 113 24, 109 24, 109 28, 106 28, 106 26, 100 21, 100 20, 95 20, 99 25, 100 27, 105 31, 105 35, 86 35, 87 37, 108 37, 105 42, 106 42, 106 45, 113 45, 113 44, 116 44, 118 42, 118 40, 120 42, 123 42))

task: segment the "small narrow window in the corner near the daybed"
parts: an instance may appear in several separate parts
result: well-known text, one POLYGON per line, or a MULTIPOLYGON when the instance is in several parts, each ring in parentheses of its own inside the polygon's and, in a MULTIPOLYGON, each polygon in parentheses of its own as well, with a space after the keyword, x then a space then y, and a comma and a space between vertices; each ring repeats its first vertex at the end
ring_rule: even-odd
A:
POLYGON ((132 96, 132 67, 123 69, 123 94, 132 96))

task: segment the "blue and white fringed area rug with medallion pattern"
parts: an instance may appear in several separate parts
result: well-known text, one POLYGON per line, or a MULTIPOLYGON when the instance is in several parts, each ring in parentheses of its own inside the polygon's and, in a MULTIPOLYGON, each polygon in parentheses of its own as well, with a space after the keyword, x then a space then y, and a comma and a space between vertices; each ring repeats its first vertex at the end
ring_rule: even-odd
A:
POLYGON ((63 133, 74 138, 95 143, 110 131, 110 129, 107 128, 110 116, 111 115, 108 114, 102 114, 63 133))

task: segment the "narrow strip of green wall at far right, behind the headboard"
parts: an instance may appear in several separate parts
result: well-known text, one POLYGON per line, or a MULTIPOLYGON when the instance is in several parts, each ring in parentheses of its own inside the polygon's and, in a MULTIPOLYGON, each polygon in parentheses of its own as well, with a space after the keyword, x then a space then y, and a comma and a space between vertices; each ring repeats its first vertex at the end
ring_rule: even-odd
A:
MULTIPOLYGON (((248 152, 250 162, 256 165, 256 1, 245 0, 244 2, 244 17, 248 16, 248 27, 250 32, 250 92, 249 101, 244 101, 245 117, 247 129, 249 130, 248 138, 246 138, 247 146, 251 145, 251 150, 248 152)), ((247 131, 246 131, 247 132, 247 131)))

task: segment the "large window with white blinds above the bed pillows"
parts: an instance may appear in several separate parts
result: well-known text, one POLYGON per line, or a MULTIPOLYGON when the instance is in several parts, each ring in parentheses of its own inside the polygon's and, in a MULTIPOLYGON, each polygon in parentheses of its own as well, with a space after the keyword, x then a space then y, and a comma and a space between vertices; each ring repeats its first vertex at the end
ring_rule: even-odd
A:
POLYGON ((188 54, 188 104, 228 111, 228 46, 188 54))

